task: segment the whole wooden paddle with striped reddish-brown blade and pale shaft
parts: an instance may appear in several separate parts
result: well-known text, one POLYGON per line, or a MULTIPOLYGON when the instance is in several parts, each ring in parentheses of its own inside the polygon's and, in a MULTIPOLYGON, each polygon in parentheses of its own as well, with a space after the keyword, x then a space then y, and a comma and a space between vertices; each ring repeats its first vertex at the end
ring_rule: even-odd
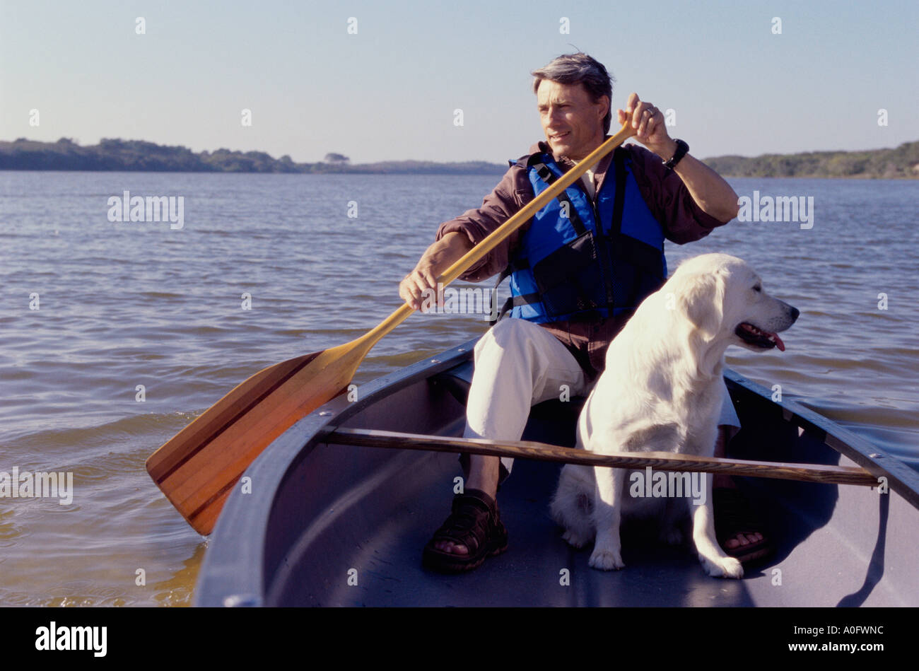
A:
MULTIPOLYGON (((446 286, 459 278, 584 175, 588 167, 634 134, 630 123, 624 124, 618 133, 448 267, 437 281, 446 286)), ((153 482, 196 531, 209 534, 233 485, 255 457, 299 419, 345 392, 370 348, 413 312, 403 304, 357 340, 259 370, 153 452, 147 459, 147 472, 153 482)))

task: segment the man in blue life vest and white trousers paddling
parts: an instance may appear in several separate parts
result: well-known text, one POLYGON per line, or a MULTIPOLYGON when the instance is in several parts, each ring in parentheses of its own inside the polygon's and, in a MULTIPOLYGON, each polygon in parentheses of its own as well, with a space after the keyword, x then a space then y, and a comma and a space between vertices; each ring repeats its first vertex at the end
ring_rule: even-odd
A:
MULTIPOLYGON (((437 290, 443 270, 606 139, 612 80, 601 63, 567 54, 532 74, 546 142, 511 165, 481 208, 440 225, 437 242, 399 286, 414 309, 425 290, 437 290)), ((633 93, 617 116, 620 125, 630 120, 647 149, 630 144, 607 154, 461 276, 481 281, 507 272, 512 292, 505 305, 511 318, 495 324, 475 349, 467 438, 518 440, 532 404, 558 398, 562 385, 571 395, 586 395, 604 368, 609 342, 666 279, 664 237, 677 244, 698 240, 737 215, 737 194, 687 154, 685 142, 669 136, 659 109, 633 93)), ((739 426, 727 390, 725 396, 720 456, 732 426, 739 426)), ((462 461, 464 493, 424 552, 426 565, 448 572, 474 569, 507 547, 495 496, 512 460, 464 455, 462 461)), ((717 515, 718 499, 731 495, 732 482, 719 476, 713 486, 717 515)), ((735 513, 743 506, 732 503, 735 513)), ((720 538, 725 551, 742 561, 766 552, 762 535, 734 517, 734 527, 720 534, 727 536, 720 538)))

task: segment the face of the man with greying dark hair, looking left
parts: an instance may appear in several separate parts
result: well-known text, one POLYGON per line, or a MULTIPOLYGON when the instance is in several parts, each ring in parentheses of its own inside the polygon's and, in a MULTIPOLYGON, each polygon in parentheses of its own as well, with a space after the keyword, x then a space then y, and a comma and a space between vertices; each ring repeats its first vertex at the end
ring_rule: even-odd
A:
POLYGON ((536 92, 539 120, 556 155, 580 161, 603 142, 603 118, 609 98, 593 102, 581 84, 559 84, 543 79, 536 92))

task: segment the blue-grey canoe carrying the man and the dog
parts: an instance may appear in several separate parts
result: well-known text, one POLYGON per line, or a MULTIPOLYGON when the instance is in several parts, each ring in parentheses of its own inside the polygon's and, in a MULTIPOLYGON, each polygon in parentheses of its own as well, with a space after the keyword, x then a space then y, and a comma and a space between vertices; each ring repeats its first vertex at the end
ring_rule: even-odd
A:
MULTIPOLYGON (((620 571, 590 568, 549 517, 561 464, 517 461, 498 493, 509 549, 470 574, 425 569, 449 512, 455 454, 336 444, 339 428, 459 437, 475 340, 338 396, 245 472, 211 536, 197 606, 919 606, 919 473, 787 396, 732 370, 736 459, 859 466, 889 491, 738 478, 777 552, 742 580, 695 552, 624 527, 620 571), (246 480, 246 478, 248 480, 246 480)), ((572 447, 580 405, 535 406, 525 440, 572 447)))

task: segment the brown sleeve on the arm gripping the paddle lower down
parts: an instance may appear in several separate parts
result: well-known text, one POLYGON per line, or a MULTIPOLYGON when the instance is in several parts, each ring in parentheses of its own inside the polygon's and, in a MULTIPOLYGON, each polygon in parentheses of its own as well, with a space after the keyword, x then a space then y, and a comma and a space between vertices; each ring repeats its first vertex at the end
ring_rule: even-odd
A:
MULTIPOLYGON (((533 199, 532 188, 528 189, 528 187, 526 172, 516 165, 512 166, 498 186, 485 196, 481 207, 466 210, 456 219, 441 223, 437 228, 436 239, 440 240, 447 233, 459 232, 469 237, 472 245, 478 245, 489 233, 492 233, 533 199)), ((528 225, 529 223, 526 223, 511 233, 504 242, 460 275, 459 279, 480 282, 504 270, 516 250, 520 235, 528 225)))

